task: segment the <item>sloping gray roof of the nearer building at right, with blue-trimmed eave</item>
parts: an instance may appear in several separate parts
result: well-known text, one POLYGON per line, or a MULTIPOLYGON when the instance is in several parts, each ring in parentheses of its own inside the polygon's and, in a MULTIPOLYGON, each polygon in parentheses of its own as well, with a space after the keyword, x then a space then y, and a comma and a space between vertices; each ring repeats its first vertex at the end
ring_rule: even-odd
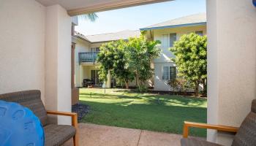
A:
POLYGON ((167 20, 163 23, 154 24, 146 28, 140 28, 140 31, 199 25, 206 25, 206 13, 199 13, 195 15, 184 16, 182 18, 176 18, 173 20, 167 20))

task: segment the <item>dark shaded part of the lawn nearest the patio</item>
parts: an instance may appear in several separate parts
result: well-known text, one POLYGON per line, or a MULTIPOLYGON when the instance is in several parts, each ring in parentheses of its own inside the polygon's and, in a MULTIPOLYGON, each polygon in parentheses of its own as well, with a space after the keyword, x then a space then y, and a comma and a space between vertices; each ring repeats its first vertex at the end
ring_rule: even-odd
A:
MULTIPOLYGON (((159 104, 133 104, 132 101, 102 103, 80 101, 91 107, 82 122, 149 131, 182 134, 184 121, 206 123, 206 107, 179 107, 159 104)), ((191 129, 189 134, 206 137, 206 131, 191 129)))

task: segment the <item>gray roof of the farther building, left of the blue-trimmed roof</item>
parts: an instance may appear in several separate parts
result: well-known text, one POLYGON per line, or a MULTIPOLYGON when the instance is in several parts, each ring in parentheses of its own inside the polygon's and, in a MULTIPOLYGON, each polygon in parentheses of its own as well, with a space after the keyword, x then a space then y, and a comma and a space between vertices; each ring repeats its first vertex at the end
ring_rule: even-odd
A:
POLYGON ((129 39, 129 37, 139 37, 140 31, 119 31, 116 33, 109 33, 109 34, 96 34, 96 35, 90 35, 90 36, 83 36, 84 39, 89 40, 89 42, 95 43, 95 42, 110 42, 110 41, 116 41, 119 39, 129 39))

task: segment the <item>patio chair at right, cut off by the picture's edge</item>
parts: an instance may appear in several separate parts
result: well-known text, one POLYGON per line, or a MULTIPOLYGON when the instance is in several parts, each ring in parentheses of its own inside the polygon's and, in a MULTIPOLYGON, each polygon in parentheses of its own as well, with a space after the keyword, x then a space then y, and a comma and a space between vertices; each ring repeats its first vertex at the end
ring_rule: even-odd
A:
POLYGON ((217 131, 225 131, 236 134, 233 139, 232 146, 252 146, 256 145, 256 99, 252 101, 251 112, 246 116, 239 128, 231 126, 218 126, 205 123, 184 122, 183 139, 181 139, 181 146, 219 146, 218 144, 207 142, 195 138, 187 138, 189 134, 189 127, 195 128, 209 128, 217 131))

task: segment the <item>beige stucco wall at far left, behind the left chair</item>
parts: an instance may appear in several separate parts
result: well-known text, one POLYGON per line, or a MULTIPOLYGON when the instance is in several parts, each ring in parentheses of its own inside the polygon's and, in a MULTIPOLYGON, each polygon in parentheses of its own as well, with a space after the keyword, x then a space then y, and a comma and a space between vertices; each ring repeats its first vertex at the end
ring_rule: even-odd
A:
POLYGON ((0 2, 0 93, 39 89, 45 102, 45 7, 0 2))

